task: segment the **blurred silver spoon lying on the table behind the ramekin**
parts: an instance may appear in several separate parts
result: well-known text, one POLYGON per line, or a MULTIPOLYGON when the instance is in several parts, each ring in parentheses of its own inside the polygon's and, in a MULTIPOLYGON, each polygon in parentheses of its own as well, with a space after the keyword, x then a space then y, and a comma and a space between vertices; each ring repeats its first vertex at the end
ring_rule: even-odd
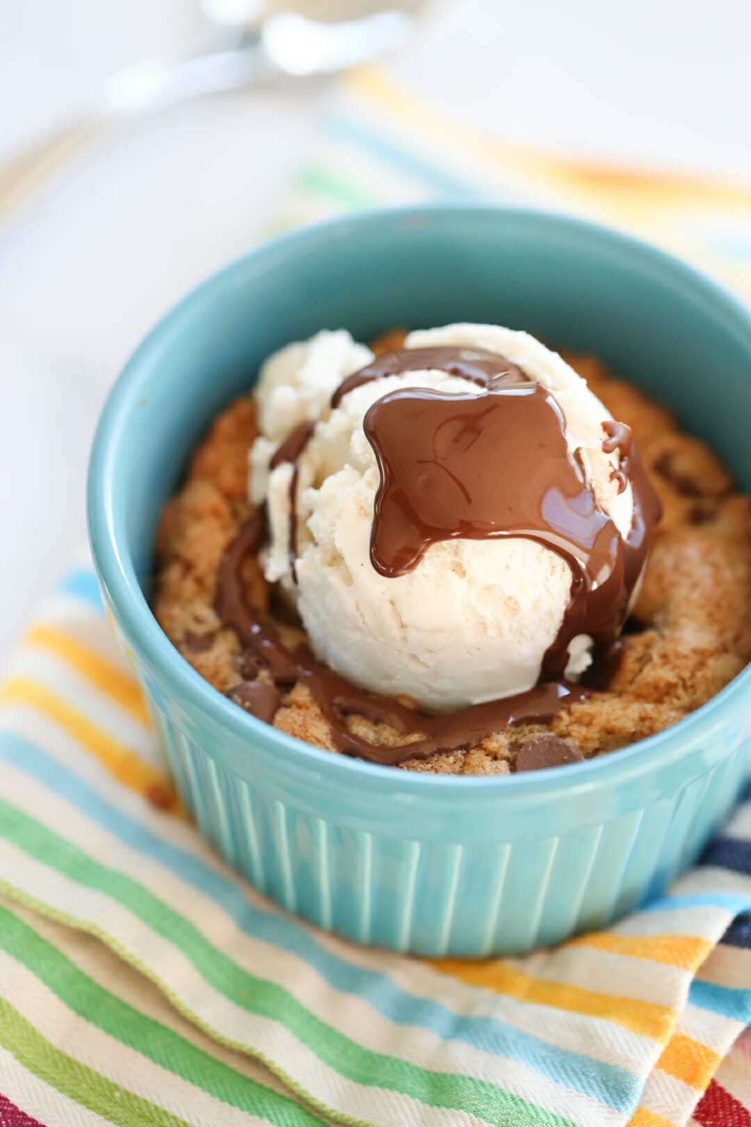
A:
MULTIPOLYGON (((0 224, 102 133, 189 98, 274 79, 333 74, 370 62, 409 42, 413 20, 404 9, 420 5, 370 3, 382 10, 333 23, 299 11, 271 11, 259 21, 258 0, 203 0, 202 6, 211 26, 196 47, 113 74, 89 92, 68 122, 0 166, 0 224)), ((333 8, 337 15, 351 14, 363 11, 363 3, 333 0, 333 8)))

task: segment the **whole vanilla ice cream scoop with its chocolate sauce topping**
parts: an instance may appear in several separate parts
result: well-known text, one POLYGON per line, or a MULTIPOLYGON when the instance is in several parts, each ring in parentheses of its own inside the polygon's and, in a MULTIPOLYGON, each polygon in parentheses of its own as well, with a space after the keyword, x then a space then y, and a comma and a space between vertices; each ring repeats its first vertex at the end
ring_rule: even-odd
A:
POLYGON ((456 710, 575 678, 615 638, 654 514, 628 429, 538 340, 454 325, 374 362, 320 334, 256 397, 266 576, 354 684, 456 710))

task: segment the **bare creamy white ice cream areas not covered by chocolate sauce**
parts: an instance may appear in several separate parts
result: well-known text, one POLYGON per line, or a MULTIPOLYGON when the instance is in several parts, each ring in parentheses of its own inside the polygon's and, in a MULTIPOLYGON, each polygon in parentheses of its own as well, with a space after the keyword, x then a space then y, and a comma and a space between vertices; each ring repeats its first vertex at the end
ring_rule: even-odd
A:
MULTIPOLYGON (((529 383, 551 393, 583 485, 602 518, 611 520, 614 535, 625 541, 634 490, 631 481, 623 488, 618 480, 619 450, 602 449, 602 424, 611 416, 584 380, 535 338, 498 326, 453 325, 412 332, 405 341, 406 349, 447 346, 506 357, 529 383)), ((254 504, 267 503, 266 576, 280 582, 295 601, 318 656, 361 687, 405 693, 430 711, 524 692, 538 682, 545 655, 558 638, 572 598, 572 566, 565 552, 518 534, 429 542, 402 574, 382 574, 374 566, 382 468, 373 434, 368 437, 364 428, 369 409, 386 402, 384 397, 399 409, 395 393, 408 389, 426 389, 439 406, 450 406, 447 396, 466 401, 488 396, 488 390, 428 366, 352 387, 332 407, 332 393, 345 378, 372 358, 369 349, 341 330, 287 346, 261 371, 254 397, 262 436, 251 451, 250 497, 254 504), (295 462, 281 460, 270 469, 279 445, 305 420, 314 426, 295 462), (296 526, 290 538, 293 492, 296 526)), ((526 396, 529 390, 526 385, 508 393, 526 396)), ((499 488, 503 483, 501 472, 499 488)), ((588 635, 573 637, 569 677, 589 665, 590 651, 588 635)))

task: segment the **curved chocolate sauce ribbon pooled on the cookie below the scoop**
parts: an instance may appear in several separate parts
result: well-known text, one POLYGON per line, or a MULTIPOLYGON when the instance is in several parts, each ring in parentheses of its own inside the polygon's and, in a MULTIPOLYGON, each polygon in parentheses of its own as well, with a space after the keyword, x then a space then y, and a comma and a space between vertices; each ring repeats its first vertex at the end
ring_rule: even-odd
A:
MULTIPOLYGON (((504 700, 476 704, 449 716, 423 716, 387 696, 376 696, 350 684, 322 665, 307 646, 288 650, 281 645, 272 623, 248 603, 242 565, 256 554, 266 540, 263 512, 250 517, 224 552, 216 575, 215 609, 221 621, 231 627, 243 647, 245 668, 266 669, 271 678, 263 690, 250 690, 249 682, 230 690, 230 698, 250 711, 270 701, 269 690, 306 685, 321 709, 337 751, 372 763, 396 765, 404 760, 424 760, 438 752, 470 747, 492 731, 522 721, 544 722, 567 704, 584 700, 585 689, 565 682, 537 685, 526 693, 504 700), (382 747, 369 743, 347 727, 347 716, 363 716, 374 724, 386 724, 395 731, 412 734, 411 743, 382 747), (414 734, 418 734, 414 736, 414 734)), ((263 717, 266 719, 266 717, 263 717)))

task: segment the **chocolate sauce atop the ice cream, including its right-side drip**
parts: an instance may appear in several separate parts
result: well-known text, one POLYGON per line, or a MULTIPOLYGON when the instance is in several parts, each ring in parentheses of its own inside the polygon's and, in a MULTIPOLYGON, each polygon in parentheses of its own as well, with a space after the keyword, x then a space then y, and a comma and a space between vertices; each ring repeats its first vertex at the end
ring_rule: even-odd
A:
MULTIPOLYGON (((440 367, 442 349, 427 350, 431 365, 440 367)), ((455 352, 449 349, 446 370, 455 352)), ((386 366, 397 370, 401 363, 394 353, 386 366)), ((616 638, 660 505, 631 431, 608 419, 602 449, 622 452, 616 472, 634 491, 632 531, 624 541, 597 504, 581 460, 569 451, 554 396, 520 381, 502 356, 495 366, 498 374, 491 364, 476 373, 482 394, 402 388, 369 408, 364 428, 381 471, 370 561, 393 578, 415 567, 430 544, 454 538, 522 536, 549 548, 572 571, 569 606, 543 659, 542 678, 553 681, 563 675, 578 635, 589 635, 596 647, 616 638)))

